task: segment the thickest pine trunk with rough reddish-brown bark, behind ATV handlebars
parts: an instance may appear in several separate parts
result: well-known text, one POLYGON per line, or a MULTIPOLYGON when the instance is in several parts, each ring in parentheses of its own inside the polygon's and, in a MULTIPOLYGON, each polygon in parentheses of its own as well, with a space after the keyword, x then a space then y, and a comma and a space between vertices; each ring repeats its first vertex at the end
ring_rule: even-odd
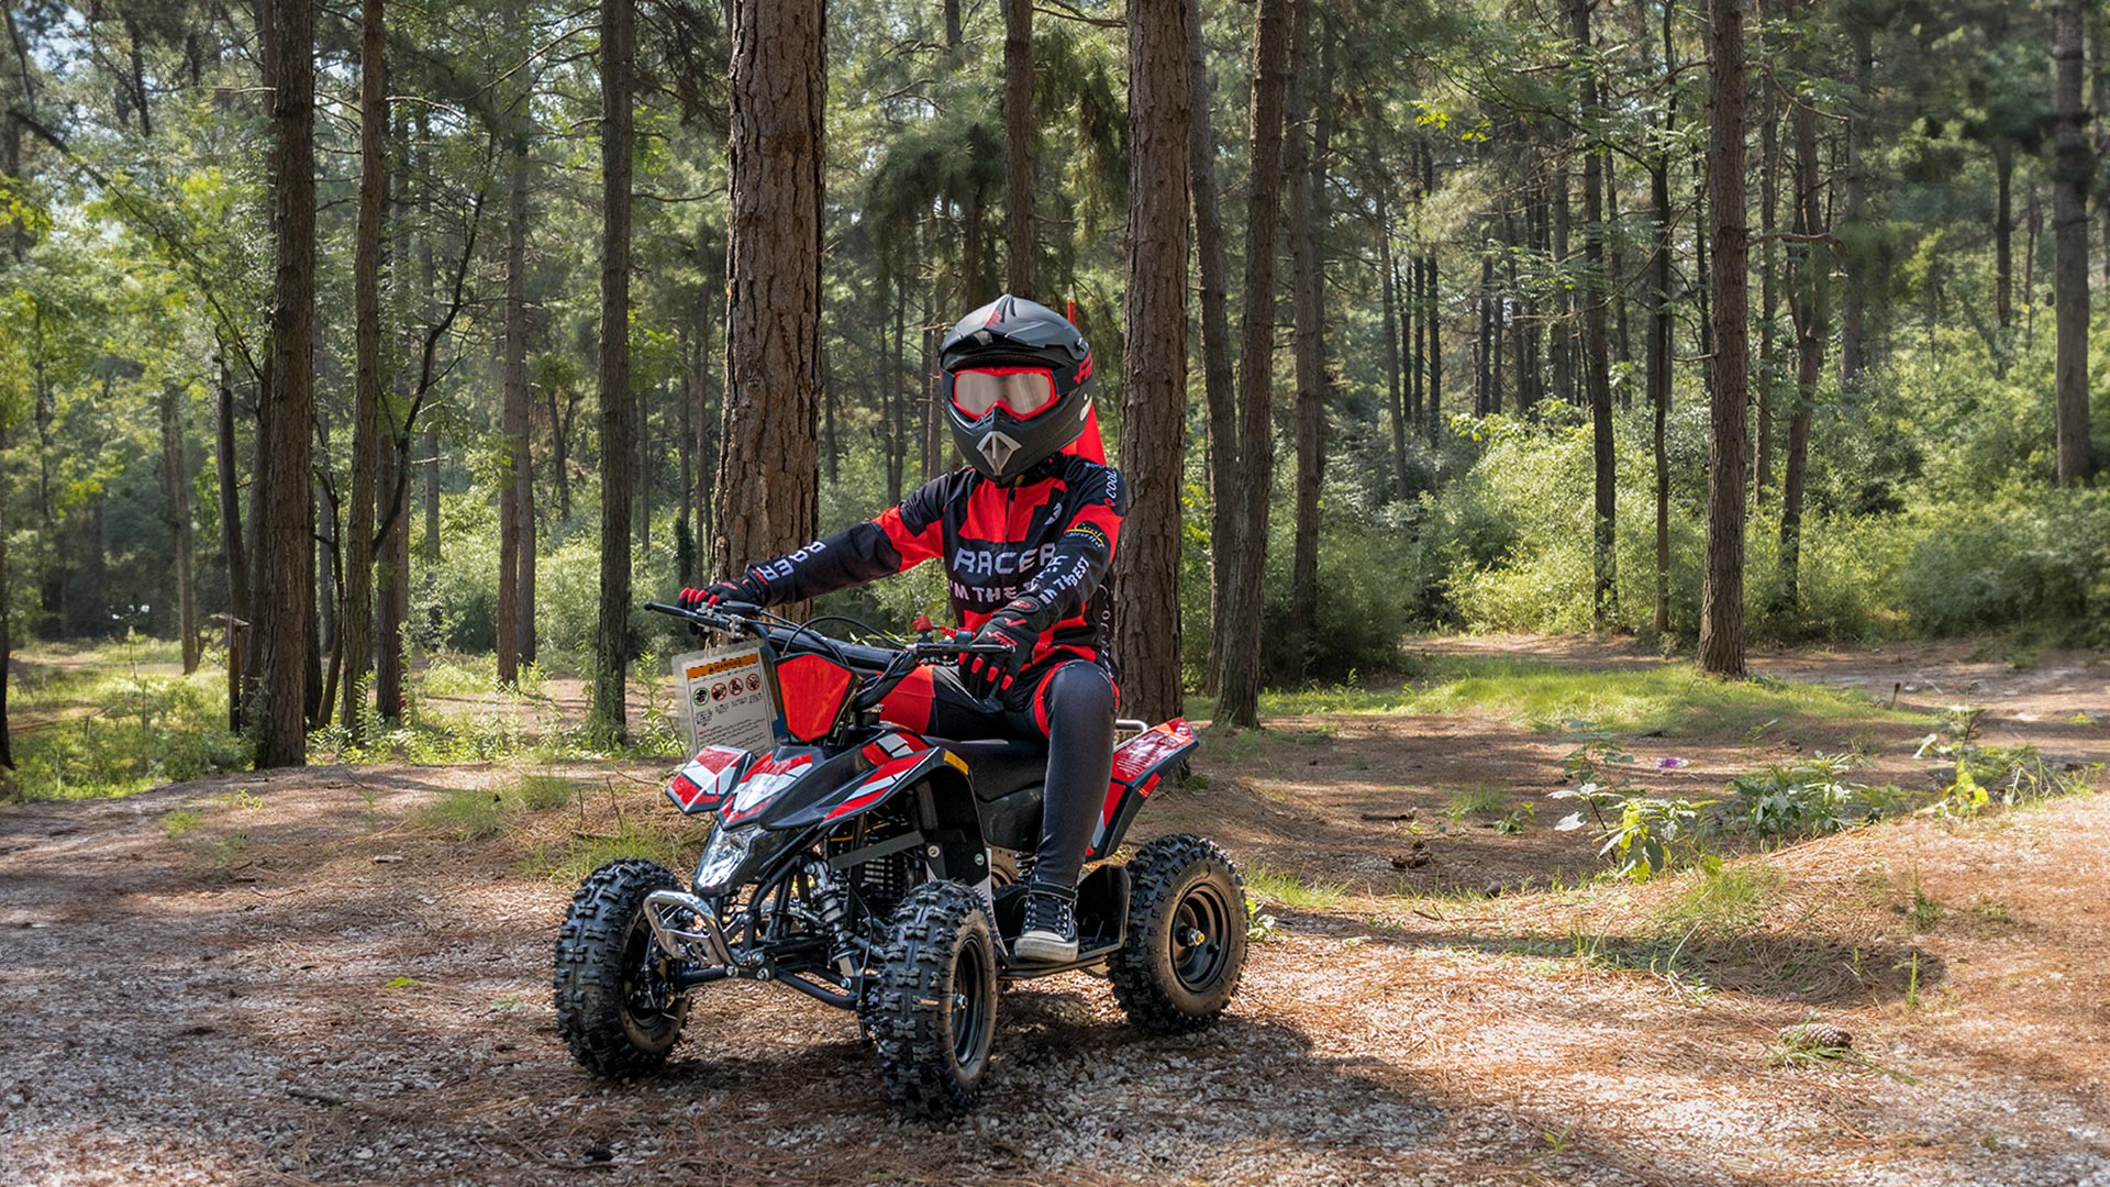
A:
POLYGON ((827 97, 821 21, 821 0, 734 4, 717 577, 814 534, 827 97))

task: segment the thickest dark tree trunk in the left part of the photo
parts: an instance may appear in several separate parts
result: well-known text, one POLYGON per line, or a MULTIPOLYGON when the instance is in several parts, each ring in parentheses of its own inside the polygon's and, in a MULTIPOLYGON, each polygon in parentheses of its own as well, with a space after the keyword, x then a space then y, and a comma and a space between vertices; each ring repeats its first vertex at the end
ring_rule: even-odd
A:
POLYGON ((314 8, 268 6, 272 89, 272 361, 257 431, 255 663, 247 689, 255 765, 308 760, 308 634, 314 621, 308 469, 314 456, 314 8))

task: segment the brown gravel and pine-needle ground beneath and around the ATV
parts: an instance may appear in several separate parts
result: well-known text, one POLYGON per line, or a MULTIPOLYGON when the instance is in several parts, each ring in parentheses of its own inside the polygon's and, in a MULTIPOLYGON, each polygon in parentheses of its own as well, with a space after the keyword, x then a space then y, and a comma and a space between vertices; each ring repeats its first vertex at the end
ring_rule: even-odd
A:
MULTIPOLYGON (((1519 786, 1553 773, 1500 722, 1329 724, 1270 743, 1266 779, 1205 767, 1139 834, 1336 870, 1405 845, 1350 843, 1390 828, 1359 803, 1441 784, 1355 762, 1471 748, 1519 786)), ((411 826, 504 777, 310 769, 0 809, 0 1183, 2110 1187, 2104 796, 1781 851, 1760 921, 1677 944, 1705 984, 1648 972, 1675 881, 1397 898, 1372 872, 1363 898, 1277 910, 1205 1035, 1144 1037, 1085 976, 1009 993, 987 1107, 920 1126, 848 1016, 755 986, 711 986, 660 1077, 578 1071, 546 991, 568 887, 506 839, 411 826), (1768 1069, 1808 1016, 1884 1071, 1768 1069)), ((1469 885, 1576 868, 1551 836, 1450 832, 1437 864, 1469 885)))

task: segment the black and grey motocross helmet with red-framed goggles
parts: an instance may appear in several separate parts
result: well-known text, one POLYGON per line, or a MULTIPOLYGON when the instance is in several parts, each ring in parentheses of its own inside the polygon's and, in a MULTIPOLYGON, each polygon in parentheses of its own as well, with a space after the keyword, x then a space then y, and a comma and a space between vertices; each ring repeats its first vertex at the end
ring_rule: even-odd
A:
POLYGON ((1091 416, 1091 346, 1044 304, 1004 294, 939 346, 952 439, 983 475, 1015 482, 1063 452, 1091 416))

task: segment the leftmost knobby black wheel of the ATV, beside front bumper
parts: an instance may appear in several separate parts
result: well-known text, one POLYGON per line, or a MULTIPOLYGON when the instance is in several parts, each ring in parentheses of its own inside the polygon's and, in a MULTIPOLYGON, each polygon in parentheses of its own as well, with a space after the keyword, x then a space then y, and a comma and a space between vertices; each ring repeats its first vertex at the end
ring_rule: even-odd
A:
POLYGON ((665 866, 618 858, 578 885, 557 929, 557 1033, 589 1071, 639 1075, 667 1060, 688 995, 652 942, 646 896, 679 889, 665 866))

